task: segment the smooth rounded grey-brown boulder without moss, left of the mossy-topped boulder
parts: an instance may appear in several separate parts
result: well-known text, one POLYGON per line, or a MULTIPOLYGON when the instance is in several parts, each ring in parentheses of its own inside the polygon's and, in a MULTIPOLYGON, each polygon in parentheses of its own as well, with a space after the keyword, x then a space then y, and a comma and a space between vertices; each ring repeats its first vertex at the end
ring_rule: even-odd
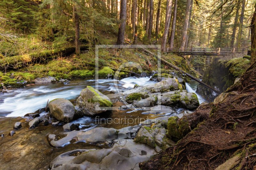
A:
POLYGON ((74 105, 67 99, 59 98, 49 102, 48 107, 53 117, 57 120, 69 123, 75 114, 74 105))

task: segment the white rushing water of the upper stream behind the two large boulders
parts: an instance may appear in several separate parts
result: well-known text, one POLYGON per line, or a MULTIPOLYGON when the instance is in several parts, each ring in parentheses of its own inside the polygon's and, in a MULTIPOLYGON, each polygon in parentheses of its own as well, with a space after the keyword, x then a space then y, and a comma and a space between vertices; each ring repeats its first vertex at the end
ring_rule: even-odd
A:
MULTIPOLYGON (((156 82, 149 81, 149 77, 124 78, 117 80, 119 90, 131 89, 135 84, 150 85, 156 82)), ((113 79, 100 79, 99 91, 103 94, 109 94, 110 90, 116 90, 113 79)), ((0 95, 0 116, 17 117, 24 116, 27 113, 34 113, 37 109, 45 107, 47 100, 64 98, 70 100, 73 104, 79 97, 80 92, 86 86, 95 87, 95 80, 75 80, 65 85, 57 84, 41 84, 28 86, 20 89, 8 90, 7 93, 0 95)))

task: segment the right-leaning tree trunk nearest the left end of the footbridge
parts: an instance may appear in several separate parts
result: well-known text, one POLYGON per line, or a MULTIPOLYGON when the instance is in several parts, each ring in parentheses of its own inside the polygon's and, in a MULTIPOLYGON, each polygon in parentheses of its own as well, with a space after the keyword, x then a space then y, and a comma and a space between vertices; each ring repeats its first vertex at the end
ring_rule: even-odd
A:
POLYGON ((169 0, 168 11, 166 11, 167 17, 166 17, 165 26, 164 26, 164 34, 163 34, 163 39, 162 39, 162 44, 161 44, 162 52, 165 51, 167 34, 168 34, 168 30, 169 30, 169 25, 170 25, 171 12, 172 12, 172 0, 169 0))

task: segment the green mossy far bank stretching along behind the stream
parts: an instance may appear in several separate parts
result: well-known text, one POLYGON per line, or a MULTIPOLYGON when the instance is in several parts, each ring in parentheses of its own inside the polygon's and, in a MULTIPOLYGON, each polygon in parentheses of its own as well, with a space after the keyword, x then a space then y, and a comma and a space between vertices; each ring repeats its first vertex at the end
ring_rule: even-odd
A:
MULTIPOLYGON (((111 41, 111 39, 109 39, 111 41)), ((114 40, 113 40, 114 41, 114 40)), ((112 41, 111 41, 112 42, 112 41)), ((12 67, 4 69, 2 67, 0 74, 0 81, 5 86, 12 85, 13 87, 23 87, 24 84, 19 84, 21 81, 27 84, 33 84, 35 78, 51 76, 58 79, 71 79, 71 78, 94 78, 95 77, 95 51, 94 48, 88 48, 82 51, 80 55, 60 55, 61 50, 53 49, 42 51, 39 53, 29 53, 30 55, 15 55, 4 56, 0 59, 0 63, 8 65, 8 61, 15 61, 12 67), (56 52, 57 51, 57 52, 56 52), (41 57, 43 54, 48 54, 46 57, 41 57), (32 55, 33 54, 33 55, 32 55), (25 59, 24 56, 28 58, 25 59), (36 57, 37 60, 32 62, 31 57, 36 57), (7 77, 4 77, 7 76, 7 77), (15 80, 16 79, 16 80, 15 80), (19 80, 19 81, 18 81, 19 80)), ((31 52, 31 51, 29 51, 31 52)), ((152 51, 154 52, 154 51, 152 51)), ((173 64, 181 67, 184 71, 196 76, 196 72, 192 69, 183 57, 163 54, 167 61, 174 62, 173 64)), ((115 71, 111 68, 119 68, 123 63, 139 63, 142 70, 146 75, 150 75, 152 70, 157 70, 157 61, 154 56, 146 54, 140 49, 99 49, 99 78, 113 78, 115 71), (152 63, 149 67, 146 57, 152 63), (109 75, 112 75, 109 77, 109 75)), ((132 71, 141 74, 138 68, 130 66, 125 67, 123 70, 132 71)), ((170 69, 165 65, 161 65, 161 72, 177 72, 170 69)), ((119 78, 128 77, 129 73, 121 71, 119 78)), ((198 77, 198 76, 197 76, 198 77)), ((188 81, 188 80, 186 80, 188 81)), ((23 83, 22 82, 22 83, 23 83)))

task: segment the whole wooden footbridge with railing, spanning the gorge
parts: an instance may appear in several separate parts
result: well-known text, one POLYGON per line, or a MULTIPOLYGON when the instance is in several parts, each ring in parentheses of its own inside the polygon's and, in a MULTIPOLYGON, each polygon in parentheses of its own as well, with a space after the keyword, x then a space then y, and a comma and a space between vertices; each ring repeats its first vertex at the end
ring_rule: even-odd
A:
POLYGON ((176 55, 248 55, 248 48, 167 48, 167 53, 176 55))

